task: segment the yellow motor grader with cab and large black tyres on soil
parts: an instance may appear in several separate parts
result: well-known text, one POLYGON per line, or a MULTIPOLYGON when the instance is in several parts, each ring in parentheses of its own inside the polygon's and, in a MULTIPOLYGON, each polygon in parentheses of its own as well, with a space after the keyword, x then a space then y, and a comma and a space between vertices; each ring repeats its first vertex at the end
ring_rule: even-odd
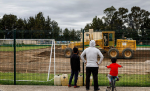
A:
MULTIPOLYGON (((96 47, 108 53, 110 58, 122 56, 125 59, 130 59, 136 51, 136 40, 128 40, 127 38, 117 39, 115 46, 115 31, 102 31, 100 35, 101 39, 93 39, 92 34, 93 33, 89 33, 89 41, 84 42, 85 48, 88 47, 90 40, 95 40, 96 47)), ((62 49, 64 49, 64 56, 70 57, 74 47, 82 51, 83 42, 71 42, 68 46, 63 45, 62 49)))

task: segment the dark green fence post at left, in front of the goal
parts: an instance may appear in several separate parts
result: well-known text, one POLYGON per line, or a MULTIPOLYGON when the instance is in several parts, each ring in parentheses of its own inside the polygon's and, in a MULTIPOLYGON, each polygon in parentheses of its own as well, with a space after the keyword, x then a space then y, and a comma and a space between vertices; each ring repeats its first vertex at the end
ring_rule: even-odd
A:
POLYGON ((16 85, 16 30, 14 30, 14 85, 16 85))

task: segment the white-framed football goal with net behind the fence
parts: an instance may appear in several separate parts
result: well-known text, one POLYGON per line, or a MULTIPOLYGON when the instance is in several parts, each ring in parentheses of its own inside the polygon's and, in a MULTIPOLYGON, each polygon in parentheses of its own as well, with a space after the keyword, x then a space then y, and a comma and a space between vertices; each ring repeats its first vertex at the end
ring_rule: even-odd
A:
MULTIPOLYGON (((0 80, 14 79, 14 40, 0 39, 0 80)), ((55 39, 16 39, 16 81, 51 81, 55 39)))

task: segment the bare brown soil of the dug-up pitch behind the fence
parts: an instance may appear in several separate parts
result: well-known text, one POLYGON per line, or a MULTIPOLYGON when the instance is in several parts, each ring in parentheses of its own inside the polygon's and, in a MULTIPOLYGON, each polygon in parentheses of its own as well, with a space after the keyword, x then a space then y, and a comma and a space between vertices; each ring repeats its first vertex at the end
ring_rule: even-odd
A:
MULTIPOLYGON (((50 53, 50 47, 16 52, 16 71, 19 73, 47 73, 50 63, 50 53)), ((52 53, 50 72, 54 72, 55 63, 55 71, 57 74, 70 73, 70 58, 64 57, 64 51, 60 48, 55 49, 55 62, 54 51, 52 51, 52 53)), ((107 53, 104 54, 104 57, 105 58, 102 64, 99 66, 99 73, 109 72, 105 66, 111 63, 110 58, 108 57, 107 53)), ((117 63, 123 65, 123 68, 119 69, 119 73, 149 74, 150 63, 146 63, 145 61, 147 60, 150 60, 150 50, 137 50, 134 52, 132 59, 123 59, 122 57, 119 57, 117 63)), ((80 60, 80 62, 80 68, 82 72, 82 60, 80 60)), ((0 72, 13 71, 14 52, 0 52, 0 72)))

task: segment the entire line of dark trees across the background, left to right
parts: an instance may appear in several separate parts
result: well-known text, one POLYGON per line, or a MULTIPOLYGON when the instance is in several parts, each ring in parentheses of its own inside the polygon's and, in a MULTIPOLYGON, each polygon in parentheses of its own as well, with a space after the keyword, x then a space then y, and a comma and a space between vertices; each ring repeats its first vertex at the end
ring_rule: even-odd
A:
MULTIPOLYGON (((116 9, 111 6, 104 9, 103 12, 105 16, 102 18, 95 16, 91 23, 85 25, 84 30, 111 30, 115 31, 116 35, 119 35, 117 36, 118 38, 128 36, 138 39, 139 42, 150 40, 148 37, 150 36, 148 30, 150 29, 149 11, 133 6, 129 12, 127 8, 119 7, 116 9), (135 35, 128 34, 129 32, 135 35)), ((4 14, 3 18, 0 19, 0 38, 13 38, 13 29, 17 30, 17 39, 55 39, 56 41, 80 40, 80 33, 82 32, 68 28, 62 30, 55 20, 51 20, 49 16, 45 18, 42 12, 27 19, 18 19, 13 14, 4 14)))

